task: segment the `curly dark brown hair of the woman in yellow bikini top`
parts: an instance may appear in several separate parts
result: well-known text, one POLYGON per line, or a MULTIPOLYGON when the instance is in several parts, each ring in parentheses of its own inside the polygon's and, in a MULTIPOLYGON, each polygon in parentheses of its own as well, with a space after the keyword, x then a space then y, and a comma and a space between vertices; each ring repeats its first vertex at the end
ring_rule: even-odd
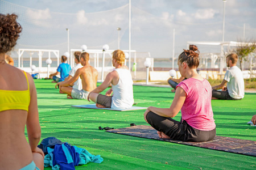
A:
POLYGON ((22 31, 17 18, 15 14, 0 14, 0 53, 7 53, 16 45, 22 31))

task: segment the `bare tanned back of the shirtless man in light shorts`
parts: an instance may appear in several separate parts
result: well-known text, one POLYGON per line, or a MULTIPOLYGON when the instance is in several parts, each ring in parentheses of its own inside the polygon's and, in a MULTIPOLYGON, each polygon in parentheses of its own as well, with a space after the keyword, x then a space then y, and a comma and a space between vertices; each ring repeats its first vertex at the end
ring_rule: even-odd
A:
POLYGON ((82 80, 82 89, 92 91, 97 87, 98 71, 90 65, 85 65, 80 69, 80 78, 82 80))

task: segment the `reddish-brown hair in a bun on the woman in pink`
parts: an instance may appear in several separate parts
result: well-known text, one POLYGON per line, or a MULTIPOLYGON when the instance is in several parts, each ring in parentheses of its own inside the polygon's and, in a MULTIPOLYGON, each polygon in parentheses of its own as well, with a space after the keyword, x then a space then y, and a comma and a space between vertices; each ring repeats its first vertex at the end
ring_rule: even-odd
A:
POLYGON ((189 45, 189 50, 183 49, 184 52, 182 52, 178 58, 178 61, 180 63, 187 63, 189 68, 192 67, 198 67, 199 66, 199 50, 196 45, 189 45))

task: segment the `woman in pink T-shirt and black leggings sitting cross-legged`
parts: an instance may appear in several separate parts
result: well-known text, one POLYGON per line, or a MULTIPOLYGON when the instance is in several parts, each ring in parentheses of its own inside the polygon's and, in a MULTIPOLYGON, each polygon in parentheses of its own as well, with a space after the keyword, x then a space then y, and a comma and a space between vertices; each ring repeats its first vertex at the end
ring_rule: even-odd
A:
POLYGON ((158 130, 160 138, 171 138, 179 141, 205 142, 216 135, 213 119, 210 83, 197 74, 199 50, 189 45, 178 58, 181 76, 187 78, 176 87, 174 100, 170 108, 148 107, 144 119, 158 130), (175 117, 181 110, 181 121, 175 117))

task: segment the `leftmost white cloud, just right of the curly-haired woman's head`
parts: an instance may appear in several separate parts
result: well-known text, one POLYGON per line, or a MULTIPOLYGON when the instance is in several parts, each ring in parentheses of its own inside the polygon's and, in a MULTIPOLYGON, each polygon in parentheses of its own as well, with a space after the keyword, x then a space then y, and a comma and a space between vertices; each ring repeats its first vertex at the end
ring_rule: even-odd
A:
POLYGON ((35 20, 45 20, 51 18, 49 8, 46 8, 46 10, 31 10, 28 8, 27 16, 35 20))

